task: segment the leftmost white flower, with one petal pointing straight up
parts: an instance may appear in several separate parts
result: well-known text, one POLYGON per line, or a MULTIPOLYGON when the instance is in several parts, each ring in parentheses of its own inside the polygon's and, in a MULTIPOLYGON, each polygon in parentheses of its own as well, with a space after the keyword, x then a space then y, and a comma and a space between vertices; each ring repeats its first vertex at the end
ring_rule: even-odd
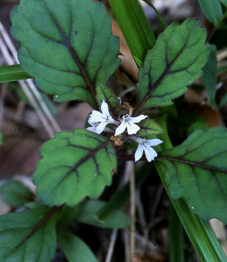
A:
POLYGON ((102 131, 104 130, 105 126, 110 123, 110 124, 119 124, 117 121, 115 121, 112 116, 109 114, 108 110, 108 105, 107 103, 103 100, 101 104, 101 112, 93 110, 92 114, 90 115, 90 122, 96 124, 99 123, 96 126, 96 132, 97 134, 101 134, 102 131))

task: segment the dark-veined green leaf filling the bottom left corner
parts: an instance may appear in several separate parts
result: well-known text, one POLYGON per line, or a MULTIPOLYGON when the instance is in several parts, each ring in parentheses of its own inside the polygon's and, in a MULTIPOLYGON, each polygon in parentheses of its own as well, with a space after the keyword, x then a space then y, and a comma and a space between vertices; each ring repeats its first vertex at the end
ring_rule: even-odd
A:
POLYGON ((59 208, 26 210, 0 217, 0 260, 47 262, 54 257, 59 208))

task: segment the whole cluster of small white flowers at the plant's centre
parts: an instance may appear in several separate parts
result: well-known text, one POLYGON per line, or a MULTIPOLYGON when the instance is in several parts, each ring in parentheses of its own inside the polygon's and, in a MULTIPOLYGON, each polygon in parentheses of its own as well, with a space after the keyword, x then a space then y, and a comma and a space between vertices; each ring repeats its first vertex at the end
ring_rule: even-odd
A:
MULTIPOLYGON (((91 125, 91 127, 88 127, 87 129, 97 134, 101 134, 103 131, 111 133, 114 132, 113 129, 108 128, 106 125, 114 124, 117 126, 115 130, 115 136, 121 135, 123 132, 125 132, 126 128, 128 134, 133 135, 136 134, 140 129, 140 127, 135 123, 139 123, 146 117, 147 115, 139 115, 137 117, 132 117, 126 114, 122 117, 122 122, 116 121, 109 114, 108 105, 103 100, 101 104, 101 112, 93 110, 92 114, 90 114, 88 123, 91 125)), ((135 153, 135 161, 138 161, 142 157, 143 151, 145 151, 147 161, 150 162, 151 160, 154 160, 154 158, 157 156, 157 153, 151 147, 157 146, 163 142, 159 139, 146 140, 133 136, 129 138, 139 144, 135 153)))

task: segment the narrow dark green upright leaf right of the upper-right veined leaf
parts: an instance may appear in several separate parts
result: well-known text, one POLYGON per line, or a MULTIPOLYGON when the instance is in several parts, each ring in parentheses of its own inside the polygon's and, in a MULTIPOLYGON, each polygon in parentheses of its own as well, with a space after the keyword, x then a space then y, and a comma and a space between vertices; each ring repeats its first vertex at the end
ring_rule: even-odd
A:
POLYGON ((210 53, 208 61, 203 68, 203 81, 210 98, 210 103, 214 107, 214 99, 217 84, 217 48, 216 45, 210 44, 210 53))

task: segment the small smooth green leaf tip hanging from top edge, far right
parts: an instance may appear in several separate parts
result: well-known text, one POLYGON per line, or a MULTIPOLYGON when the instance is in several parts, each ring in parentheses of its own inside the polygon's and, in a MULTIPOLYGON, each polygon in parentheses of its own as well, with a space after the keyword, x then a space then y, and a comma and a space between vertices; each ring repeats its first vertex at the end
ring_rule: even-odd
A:
POLYGON ((216 24, 222 17, 221 5, 217 0, 198 0, 200 7, 211 24, 216 24))

